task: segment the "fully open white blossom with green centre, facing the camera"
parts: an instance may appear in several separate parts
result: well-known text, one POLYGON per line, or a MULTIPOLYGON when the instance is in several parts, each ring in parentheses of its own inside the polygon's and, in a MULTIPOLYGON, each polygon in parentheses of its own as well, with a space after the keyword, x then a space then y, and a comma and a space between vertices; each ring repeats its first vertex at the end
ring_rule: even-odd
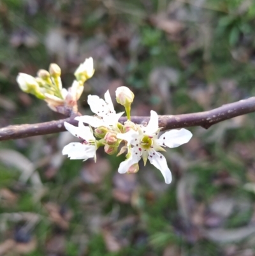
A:
POLYGON ((145 164, 149 159, 150 163, 161 171, 165 182, 171 183, 171 172, 166 158, 158 151, 164 151, 163 147, 178 147, 189 142, 192 133, 182 128, 165 132, 158 138, 160 130, 157 113, 151 110, 150 121, 147 126, 137 125, 137 130, 117 134, 117 138, 126 140, 128 142, 127 146, 129 146, 127 160, 120 163, 118 169, 120 173, 126 173, 141 158, 143 158, 145 164))

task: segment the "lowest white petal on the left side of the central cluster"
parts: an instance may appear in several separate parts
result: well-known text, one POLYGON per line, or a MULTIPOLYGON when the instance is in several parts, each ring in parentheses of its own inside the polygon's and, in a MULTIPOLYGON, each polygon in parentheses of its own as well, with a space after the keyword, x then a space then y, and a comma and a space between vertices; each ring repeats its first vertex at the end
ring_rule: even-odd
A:
POLYGON ((62 154, 68 154, 70 159, 84 159, 85 161, 88 158, 94 157, 96 154, 96 146, 72 142, 64 146, 62 154))

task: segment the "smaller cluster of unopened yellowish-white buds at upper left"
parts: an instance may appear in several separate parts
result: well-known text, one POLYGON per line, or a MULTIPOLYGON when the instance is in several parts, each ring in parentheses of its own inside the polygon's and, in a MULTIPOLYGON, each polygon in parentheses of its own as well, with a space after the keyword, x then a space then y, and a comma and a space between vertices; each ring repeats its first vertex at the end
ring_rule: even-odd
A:
POLYGON ((69 116, 72 112, 77 112, 77 100, 84 91, 84 82, 93 74, 93 59, 90 57, 77 68, 76 80, 68 90, 62 88, 61 68, 55 63, 50 64, 48 71, 39 70, 37 77, 19 73, 17 82, 25 93, 34 94, 37 98, 45 100, 50 109, 69 116))

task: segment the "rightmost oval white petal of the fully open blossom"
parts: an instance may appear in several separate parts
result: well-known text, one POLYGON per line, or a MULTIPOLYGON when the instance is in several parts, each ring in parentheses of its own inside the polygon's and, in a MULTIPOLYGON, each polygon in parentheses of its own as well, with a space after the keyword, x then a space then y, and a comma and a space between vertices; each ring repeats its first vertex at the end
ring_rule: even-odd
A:
POLYGON ((157 143, 161 146, 179 147, 180 145, 189 142, 191 137, 192 133, 182 128, 180 130, 171 130, 163 133, 157 140, 157 143))

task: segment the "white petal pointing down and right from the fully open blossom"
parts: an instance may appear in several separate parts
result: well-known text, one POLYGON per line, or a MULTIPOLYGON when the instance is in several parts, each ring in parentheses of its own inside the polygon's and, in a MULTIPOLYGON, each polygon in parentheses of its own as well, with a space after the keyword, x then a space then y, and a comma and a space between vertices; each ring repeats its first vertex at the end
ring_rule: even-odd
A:
POLYGON ((149 161, 152 165, 154 165, 157 169, 161 171, 161 173, 164 176, 164 181, 166 184, 171 183, 171 171, 168 168, 168 165, 166 163, 166 158, 163 156, 163 154, 155 151, 150 150, 149 152, 149 161))

